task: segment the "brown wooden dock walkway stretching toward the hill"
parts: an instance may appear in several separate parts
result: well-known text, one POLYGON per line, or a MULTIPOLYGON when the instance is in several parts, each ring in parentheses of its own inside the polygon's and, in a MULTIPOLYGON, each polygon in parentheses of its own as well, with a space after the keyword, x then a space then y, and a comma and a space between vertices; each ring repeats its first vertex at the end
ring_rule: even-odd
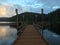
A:
POLYGON ((48 45, 33 25, 28 25, 13 45, 48 45))

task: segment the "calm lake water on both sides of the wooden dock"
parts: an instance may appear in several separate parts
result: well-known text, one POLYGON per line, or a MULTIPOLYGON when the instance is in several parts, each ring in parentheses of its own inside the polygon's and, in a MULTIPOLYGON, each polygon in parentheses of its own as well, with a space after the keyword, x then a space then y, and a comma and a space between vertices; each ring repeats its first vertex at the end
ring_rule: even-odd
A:
MULTIPOLYGON (((39 30, 41 33, 41 30, 39 30)), ((60 35, 57 35, 48 29, 44 31, 44 38, 50 45, 60 45, 60 35)), ((11 45, 17 38, 17 30, 10 26, 0 26, 0 45, 11 45)))

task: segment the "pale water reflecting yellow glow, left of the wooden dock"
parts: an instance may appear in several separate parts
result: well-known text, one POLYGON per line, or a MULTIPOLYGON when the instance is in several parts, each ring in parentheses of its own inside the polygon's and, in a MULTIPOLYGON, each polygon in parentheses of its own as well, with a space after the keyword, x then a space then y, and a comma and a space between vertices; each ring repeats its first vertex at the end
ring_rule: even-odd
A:
POLYGON ((9 26, 0 26, 0 45, 11 45, 17 37, 17 30, 9 26))

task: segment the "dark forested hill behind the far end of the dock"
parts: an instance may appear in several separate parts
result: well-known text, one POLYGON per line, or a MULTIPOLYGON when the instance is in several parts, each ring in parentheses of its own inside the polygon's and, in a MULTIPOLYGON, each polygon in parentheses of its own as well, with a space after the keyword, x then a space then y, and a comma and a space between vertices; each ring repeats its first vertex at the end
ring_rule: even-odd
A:
MULTIPOLYGON (((19 20, 19 22, 23 22, 23 19, 24 19, 24 22, 35 22, 35 20, 37 19, 37 22, 40 22, 42 16, 47 17, 46 14, 43 14, 43 15, 39 14, 39 13, 25 12, 25 13, 18 14, 18 18, 19 18, 18 20, 19 20), (23 18, 23 16, 24 16, 24 18, 23 18)), ((11 17, 11 21, 16 22, 16 16, 11 17)))

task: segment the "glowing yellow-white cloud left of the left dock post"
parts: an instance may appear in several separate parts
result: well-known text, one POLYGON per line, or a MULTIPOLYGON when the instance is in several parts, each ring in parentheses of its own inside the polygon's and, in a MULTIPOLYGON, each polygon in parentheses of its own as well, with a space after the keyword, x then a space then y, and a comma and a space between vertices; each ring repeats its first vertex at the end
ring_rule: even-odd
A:
POLYGON ((15 8, 14 5, 10 5, 10 4, 2 4, 0 6, 0 17, 11 17, 12 15, 15 14, 15 8))

